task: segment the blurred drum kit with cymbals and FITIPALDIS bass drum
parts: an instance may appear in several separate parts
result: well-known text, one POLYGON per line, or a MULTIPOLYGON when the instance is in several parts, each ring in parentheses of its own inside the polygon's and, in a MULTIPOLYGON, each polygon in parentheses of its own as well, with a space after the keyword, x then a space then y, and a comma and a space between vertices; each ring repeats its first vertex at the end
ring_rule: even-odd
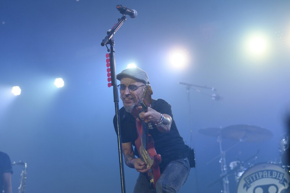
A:
POLYGON ((223 189, 221 192, 230 193, 229 174, 233 174, 237 193, 290 193, 290 163, 289 163, 289 141, 290 134, 284 134, 279 144, 280 162, 279 163, 249 163, 256 160, 258 152, 244 161, 233 161, 229 164, 231 170, 227 170, 225 154, 230 149, 242 142, 262 142, 271 139, 272 132, 258 126, 251 125, 232 125, 225 128, 203 128, 199 133, 216 137, 220 147, 220 155, 210 160, 207 164, 220 157, 221 167, 220 178, 210 184, 222 181, 223 189), (229 149, 223 150, 222 139, 237 140, 229 149))

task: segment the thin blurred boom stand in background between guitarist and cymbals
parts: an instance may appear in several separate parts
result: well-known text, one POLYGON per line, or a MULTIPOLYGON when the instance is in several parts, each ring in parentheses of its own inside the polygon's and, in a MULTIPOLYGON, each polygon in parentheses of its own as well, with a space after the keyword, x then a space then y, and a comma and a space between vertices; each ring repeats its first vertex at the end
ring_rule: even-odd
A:
MULTIPOLYGON (((203 88, 203 89, 210 89, 210 90, 214 91, 215 94, 208 95, 208 94, 205 94, 205 93, 201 92, 198 89, 192 88, 192 89, 194 89, 194 91, 199 92, 199 93, 202 93, 202 94, 207 95, 207 96, 210 96, 214 100, 221 99, 222 97, 220 97, 218 94, 216 94, 216 89, 213 88, 213 87, 199 86, 199 85, 194 85, 194 84, 189 84, 189 83, 184 83, 184 82, 179 82, 179 84, 183 84, 183 85, 186 86, 187 101, 188 101, 188 106, 189 106, 189 127, 190 127, 190 132, 191 132, 191 134, 190 134, 190 149, 191 149, 191 136, 192 136, 191 117, 192 117, 192 115, 191 115, 190 89, 192 87, 199 87, 199 88, 203 88)), ((195 168, 194 175, 195 175, 195 182, 196 182, 196 192, 199 193, 198 182, 197 182, 198 177, 197 177, 197 169, 196 168, 195 168)))

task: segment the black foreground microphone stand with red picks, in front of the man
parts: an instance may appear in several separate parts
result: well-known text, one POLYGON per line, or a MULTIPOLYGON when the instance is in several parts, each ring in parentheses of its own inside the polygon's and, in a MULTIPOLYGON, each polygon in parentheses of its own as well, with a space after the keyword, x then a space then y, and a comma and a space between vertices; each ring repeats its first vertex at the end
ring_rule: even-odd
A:
POLYGON ((121 189, 122 193, 125 193, 125 178, 124 178, 124 165, 123 165, 123 156, 122 156, 122 144, 121 144, 121 132, 120 132, 120 117, 119 117, 119 96, 117 89, 117 78, 116 78, 116 66, 115 66, 115 41, 113 35, 121 27, 121 25, 126 21, 126 15, 123 15, 121 19, 118 19, 118 22, 113 26, 111 30, 107 31, 107 36, 103 39, 101 46, 106 45, 107 51, 110 52, 110 70, 111 70, 111 80, 113 86, 113 95, 115 102, 115 114, 116 114, 116 123, 117 123, 117 141, 118 141, 118 154, 119 154, 119 164, 120 164, 120 177, 121 177, 121 189), (107 44, 110 44, 110 49, 107 44))

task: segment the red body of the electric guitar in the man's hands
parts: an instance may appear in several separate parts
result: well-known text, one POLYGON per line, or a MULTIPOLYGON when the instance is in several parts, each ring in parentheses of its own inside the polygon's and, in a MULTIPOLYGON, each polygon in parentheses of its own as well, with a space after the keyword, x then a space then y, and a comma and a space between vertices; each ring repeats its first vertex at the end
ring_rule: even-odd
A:
POLYGON ((153 184, 153 187, 156 187, 156 182, 160 177, 159 164, 161 163, 161 155, 157 154, 154 148, 154 140, 150 134, 146 136, 146 149, 144 149, 142 144, 142 134, 143 126, 142 121, 137 118, 136 128, 138 138, 135 140, 135 144, 139 153, 140 158, 146 163, 146 165, 151 166, 151 170, 147 172, 147 178, 150 183, 153 184))

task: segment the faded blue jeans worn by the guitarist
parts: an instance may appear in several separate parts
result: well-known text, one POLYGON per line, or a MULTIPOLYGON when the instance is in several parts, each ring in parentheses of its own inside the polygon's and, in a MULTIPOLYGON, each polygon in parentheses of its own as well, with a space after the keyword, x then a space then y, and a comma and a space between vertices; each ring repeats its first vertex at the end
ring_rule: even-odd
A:
POLYGON ((156 189, 150 189, 150 182, 144 173, 140 173, 133 193, 171 193, 178 192, 189 175, 188 158, 168 163, 156 183, 156 189))

